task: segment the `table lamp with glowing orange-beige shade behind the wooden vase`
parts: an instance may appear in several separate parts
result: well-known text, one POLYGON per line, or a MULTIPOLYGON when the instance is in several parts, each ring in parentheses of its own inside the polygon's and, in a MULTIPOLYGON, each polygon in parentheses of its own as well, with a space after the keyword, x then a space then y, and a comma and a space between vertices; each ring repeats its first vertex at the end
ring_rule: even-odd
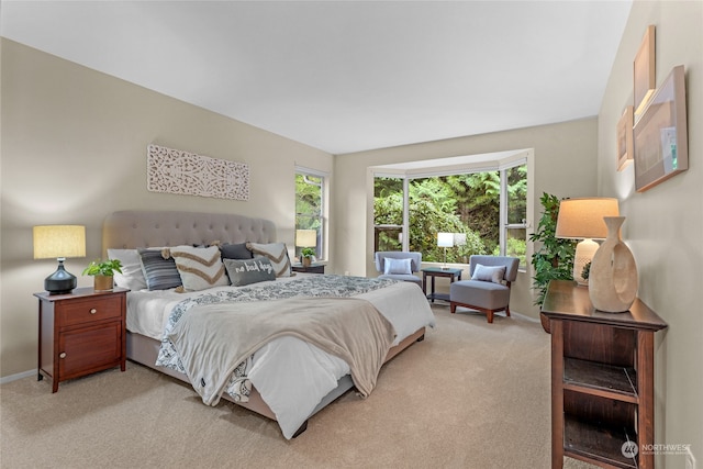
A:
POLYGON ((607 227, 603 216, 617 216, 617 199, 582 198, 565 199, 559 204, 556 236, 567 239, 582 239, 576 245, 573 256, 573 280, 588 284, 583 278, 583 268, 591 261, 599 248, 593 239, 605 239, 607 227))

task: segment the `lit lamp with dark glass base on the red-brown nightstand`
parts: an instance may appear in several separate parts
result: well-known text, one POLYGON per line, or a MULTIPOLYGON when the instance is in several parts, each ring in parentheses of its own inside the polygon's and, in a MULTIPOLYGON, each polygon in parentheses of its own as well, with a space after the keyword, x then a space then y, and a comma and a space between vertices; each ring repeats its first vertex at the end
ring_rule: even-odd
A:
POLYGON ((58 260, 58 268, 44 279, 44 289, 52 294, 70 293, 78 284, 76 276, 67 272, 67 257, 86 257, 86 227, 81 225, 41 225, 32 230, 34 258, 58 260))

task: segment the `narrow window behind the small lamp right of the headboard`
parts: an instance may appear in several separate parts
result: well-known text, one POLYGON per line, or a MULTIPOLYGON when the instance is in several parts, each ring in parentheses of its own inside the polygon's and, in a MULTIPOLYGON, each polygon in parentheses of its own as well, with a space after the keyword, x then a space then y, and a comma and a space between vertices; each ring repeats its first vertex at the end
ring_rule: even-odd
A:
MULTIPOLYGON (((303 247, 313 247, 315 258, 323 259, 325 253, 325 178, 322 172, 311 169, 295 168, 295 233, 301 234, 295 239, 295 257, 300 257, 303 247), (314 246, 311 242, 302 242, 305 246, 299 246, 300 239, 309 238, 299 230, 314 232, 314 246)), ((308 232, 310 233, 310 232, 308 232)))

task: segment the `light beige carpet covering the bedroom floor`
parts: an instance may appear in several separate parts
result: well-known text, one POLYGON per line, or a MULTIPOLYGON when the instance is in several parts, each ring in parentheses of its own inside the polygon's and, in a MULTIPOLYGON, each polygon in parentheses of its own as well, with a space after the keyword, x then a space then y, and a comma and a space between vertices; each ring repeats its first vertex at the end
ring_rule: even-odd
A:
MULTIPOLYGON (((0 467, 548 468, 549 335, 435 305, 437 327, 286 440, 275 422, 140 365, 0 387, 0 467)), ((566 458, 566 467, 588 467, 566 458)))

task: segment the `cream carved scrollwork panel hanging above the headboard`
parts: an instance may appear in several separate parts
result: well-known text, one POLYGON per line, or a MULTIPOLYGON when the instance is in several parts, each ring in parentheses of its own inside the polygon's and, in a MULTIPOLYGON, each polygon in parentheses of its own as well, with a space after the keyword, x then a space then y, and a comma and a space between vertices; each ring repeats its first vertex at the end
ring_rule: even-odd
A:
POLYGON ((146 188, 152 192, 249 200, 249 165, 149 145, 146 188))

